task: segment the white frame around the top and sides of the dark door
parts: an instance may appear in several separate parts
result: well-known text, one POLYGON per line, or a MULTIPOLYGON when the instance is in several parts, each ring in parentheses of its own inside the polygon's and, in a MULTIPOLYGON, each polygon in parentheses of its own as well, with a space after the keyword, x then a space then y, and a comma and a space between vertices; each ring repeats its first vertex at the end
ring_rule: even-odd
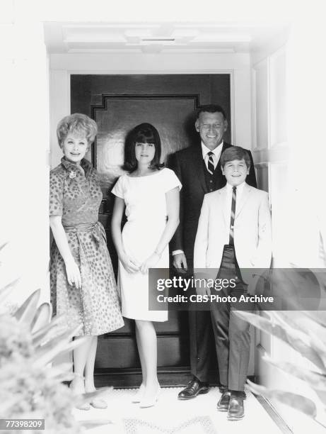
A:
POLYGON ((70 113, 70 74, 214 74, 231 72, 232 142, 250 149, 250 56, 227 55, 51 55, 51 167, 59 164, 61 151, 55 129, 70 113))

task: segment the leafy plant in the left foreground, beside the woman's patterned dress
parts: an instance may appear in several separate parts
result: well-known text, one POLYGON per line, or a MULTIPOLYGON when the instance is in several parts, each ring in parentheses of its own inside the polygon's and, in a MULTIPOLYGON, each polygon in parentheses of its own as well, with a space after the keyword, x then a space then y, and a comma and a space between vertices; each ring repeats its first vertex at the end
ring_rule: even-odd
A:
MULTIPOLYGON (((0 251, 3 248, 4 245, 0 246, 0 251)), ((15 283, 0 289, 0 306, 5 305, 15 283)), ((62 384, 74 378, 71 364, 52 367, 51 362, 83 343, 83 338, 71 341, 80 326, 67 329, 64 318, 52 318, 51 304, 37 307, 39 299, 40 290, 37 290, 14 313, 5 309, 0 313, 0 418, 45 418, 45 433, 49 434, 78 434, 110 423, 75 420, 74 407, 107 388, 75 396, 62 384)), ((11 306, 10 310, 15 308, 11 306)))

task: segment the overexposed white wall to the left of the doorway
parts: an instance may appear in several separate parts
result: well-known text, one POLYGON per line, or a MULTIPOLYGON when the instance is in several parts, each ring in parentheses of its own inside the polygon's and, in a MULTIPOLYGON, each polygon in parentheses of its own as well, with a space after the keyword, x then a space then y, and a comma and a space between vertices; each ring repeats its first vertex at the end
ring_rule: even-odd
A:
POLYGON ((6 41, 0 58, 0 245, 8 245, 0 253, 0 287, 19 278, 8 304, 21 304, 38 288, 42 300, 49 299, 48 59, 41 23, 30 26, 16 9, 7 12, 0 18, 6 41))

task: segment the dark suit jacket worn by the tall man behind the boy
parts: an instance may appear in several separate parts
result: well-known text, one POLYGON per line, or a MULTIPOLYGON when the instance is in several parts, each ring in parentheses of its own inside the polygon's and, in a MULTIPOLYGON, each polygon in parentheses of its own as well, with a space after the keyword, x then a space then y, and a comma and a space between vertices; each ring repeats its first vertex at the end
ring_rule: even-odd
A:
MULTIPOLYGON (((231 145, 223 143, 223 150, 231 145)), ((247 184, 257 187, 255 169, 250 155, 250 172, 246 179, 247 184)), ((187 257, 188 267, 192 269, 194 257, 194 240, 196 238, 197 226, 204 200, 204 194, 209 193, 206 187, 204 165, 202 157, 202 146, 198 143, 190 148, 175 152, 170 158, 170 167, 180 179, 182 189, 180 191, 180 224, 173 239, 170 241, 171 250, 183 250, 187 257)), ((215 189, 221 189, 226 185, 226 178, 221 171, 220 160, 216 167, 215 189)))

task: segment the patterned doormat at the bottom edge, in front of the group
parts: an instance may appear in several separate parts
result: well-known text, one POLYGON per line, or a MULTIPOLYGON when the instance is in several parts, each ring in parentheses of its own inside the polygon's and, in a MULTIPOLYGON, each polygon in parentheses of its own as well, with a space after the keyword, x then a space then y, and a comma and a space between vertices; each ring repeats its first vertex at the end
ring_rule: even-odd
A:
POLYGON ((126 434, 218 434, 209 416, 197 416, 173 428, 139 418, 124 418, 123 422, 126 434))

